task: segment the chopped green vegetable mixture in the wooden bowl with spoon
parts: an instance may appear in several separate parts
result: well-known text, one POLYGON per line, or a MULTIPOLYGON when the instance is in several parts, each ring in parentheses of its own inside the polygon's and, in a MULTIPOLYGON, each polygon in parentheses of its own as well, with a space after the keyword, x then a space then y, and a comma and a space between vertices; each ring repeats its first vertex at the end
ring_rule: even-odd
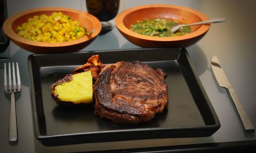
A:
POLYGON ((178 24, 177 20, 170 21, 165 18, 142 19, 132 24, 131 30, 142 35, 154 37, 181 36, 192 31, 189 27, 182 27, 175 33, 171 33, 170 29, 178 24))

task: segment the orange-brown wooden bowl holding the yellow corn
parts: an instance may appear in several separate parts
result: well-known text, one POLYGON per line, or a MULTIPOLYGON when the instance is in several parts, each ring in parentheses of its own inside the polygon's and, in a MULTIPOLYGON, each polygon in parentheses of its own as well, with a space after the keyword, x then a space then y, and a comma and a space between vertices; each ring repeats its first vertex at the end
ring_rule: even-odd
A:
POLYGON ((88 46, 101 31, 101 23, 95 16, 86 12, 69 8, 46 7, 27 10, 7 18, 7 20, 5 20, 3 24, 3 30, 10 38, 10 40, 30 52, 38 54, 68 53, 77 52, 78 50, 88 46), (27 22, 30 17, 41 14, 46 14, 49 16, 53 12, 62 12, 63 14, 70 16, 72 20, 78 20, 81 27, 86 28, 88 32, 91 32, 92 29, 95 29, 95 31, 92 33, 91 36, 84 36, 77 40, 56 43, 36 42, 25 39, 16 34, 16 28, 18 27, 18 25, 27 22))

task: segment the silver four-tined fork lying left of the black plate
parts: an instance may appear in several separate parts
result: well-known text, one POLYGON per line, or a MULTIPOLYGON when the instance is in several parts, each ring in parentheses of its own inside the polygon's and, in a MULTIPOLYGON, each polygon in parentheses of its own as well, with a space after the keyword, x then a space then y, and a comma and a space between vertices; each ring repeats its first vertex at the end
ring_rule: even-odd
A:
POLYGON ((10 120, 9 120, 9 142, 15 142, 18 139, 17 136, 17 121, 16 121, 16 108, 15 108, 15 93, 20 92, 20 77, 19 77, 19 68, 18 63, 16 62, 16 73, 15 65, 12 62, 8 63, 8 78, 7 78, 7 68, 5 63, 5 92, 11 93, 11 103, 10 103, 10 120), (17 80, 16 80, 17 79, 17 80))

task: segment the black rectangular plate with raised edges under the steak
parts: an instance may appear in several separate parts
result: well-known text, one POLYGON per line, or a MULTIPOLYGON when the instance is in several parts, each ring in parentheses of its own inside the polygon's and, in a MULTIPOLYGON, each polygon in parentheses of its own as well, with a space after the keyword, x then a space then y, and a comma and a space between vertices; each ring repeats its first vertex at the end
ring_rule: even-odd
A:
POLYGON ((30 55, 28 58, 34 130, 46 146, 136 139, 207 137, 219 119, 185 48, 150 48, 30 55), (50 86, 74 68, 100 55, 104 64, 139 60, 168 74, 168 110, 148 123, 120 125, 94 115, 88 106, 58 106, 50 86))

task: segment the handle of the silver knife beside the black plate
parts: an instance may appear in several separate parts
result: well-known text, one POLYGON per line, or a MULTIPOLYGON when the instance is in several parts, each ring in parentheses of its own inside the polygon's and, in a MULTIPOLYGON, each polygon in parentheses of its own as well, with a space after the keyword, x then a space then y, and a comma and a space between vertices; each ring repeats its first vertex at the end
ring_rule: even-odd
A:
POLYGON ((234 91, 233 88, 228 88, 228 92, 233 100, 234 105, 237 108, 238 114, 243 122, 244 128, 246 132, 254 132, 254 126, 251 123, 251 120, 249 118, 249 116, 246 114, 243 106, 241 105, 241 102, 238 98, 238 95, 236 93, 236 91, 234 91))

